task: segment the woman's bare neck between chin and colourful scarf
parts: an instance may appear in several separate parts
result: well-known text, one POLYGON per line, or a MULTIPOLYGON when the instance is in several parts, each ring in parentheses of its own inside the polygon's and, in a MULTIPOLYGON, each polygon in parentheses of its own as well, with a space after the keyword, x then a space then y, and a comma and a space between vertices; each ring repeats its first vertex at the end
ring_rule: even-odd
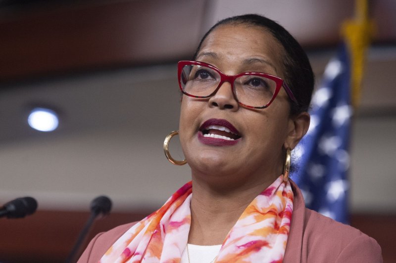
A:
MULTIPOLYGON (((208 182, 208 175, 193 173, 191 227, 189 243, 196 245, 222 244, 250 202, 279 175, 254 183, 226 184, 208 182)), ((224 179, 224 178, 223 178, 224 179)))

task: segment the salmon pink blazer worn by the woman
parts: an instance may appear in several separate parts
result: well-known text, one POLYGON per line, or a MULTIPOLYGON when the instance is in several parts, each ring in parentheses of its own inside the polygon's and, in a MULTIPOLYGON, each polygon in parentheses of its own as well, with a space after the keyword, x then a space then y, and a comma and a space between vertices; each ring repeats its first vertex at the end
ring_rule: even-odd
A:
MULTIPOLYGON (((381 248, 361 231, 305 208, 297 185, 284 263, 382 263, 381 248)), ((134 223, 99 233, 78 263, 98 263, 107 249, 134 223)))

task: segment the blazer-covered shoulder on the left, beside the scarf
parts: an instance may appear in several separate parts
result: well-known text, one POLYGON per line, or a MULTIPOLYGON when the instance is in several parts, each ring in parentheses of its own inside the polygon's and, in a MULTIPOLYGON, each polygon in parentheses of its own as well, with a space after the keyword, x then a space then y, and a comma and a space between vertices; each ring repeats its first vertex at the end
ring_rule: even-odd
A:
POLYGON ((98 263, 107 249, 135 223, 119 225, 107 232, 97 234, 88 244, 78 263, 98 263))

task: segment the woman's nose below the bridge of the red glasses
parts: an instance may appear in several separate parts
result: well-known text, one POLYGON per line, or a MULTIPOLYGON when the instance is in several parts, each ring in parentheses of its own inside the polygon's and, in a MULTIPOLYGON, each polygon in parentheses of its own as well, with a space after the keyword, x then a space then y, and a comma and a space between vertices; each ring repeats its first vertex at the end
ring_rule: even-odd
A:
POLYGON ((218 107, 221 110, 238 110, 238 101, 234 96, 231 83, 224 82, 217 92, 209 98, 209 107, 218 107))

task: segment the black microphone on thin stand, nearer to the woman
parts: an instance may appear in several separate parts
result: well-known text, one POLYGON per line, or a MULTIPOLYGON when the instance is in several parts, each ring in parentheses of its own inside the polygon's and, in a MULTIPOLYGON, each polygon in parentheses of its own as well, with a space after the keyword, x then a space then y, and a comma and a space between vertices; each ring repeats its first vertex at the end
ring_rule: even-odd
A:
POLYGON ((76 244, 74 244, 73 249, 71 250, 69 256, 66 259, 66 263, 74 263, 76 262, 76 256, 81 249, 81 245, 83 241, 91 229, 94 220, 100 216, 100 218, 108 215, 111 210, 111 200, 107 196, 98 196, 91 202, 91 216, 85 224, 83 230, 81 230, 80 235, 77 238, 76 244))

